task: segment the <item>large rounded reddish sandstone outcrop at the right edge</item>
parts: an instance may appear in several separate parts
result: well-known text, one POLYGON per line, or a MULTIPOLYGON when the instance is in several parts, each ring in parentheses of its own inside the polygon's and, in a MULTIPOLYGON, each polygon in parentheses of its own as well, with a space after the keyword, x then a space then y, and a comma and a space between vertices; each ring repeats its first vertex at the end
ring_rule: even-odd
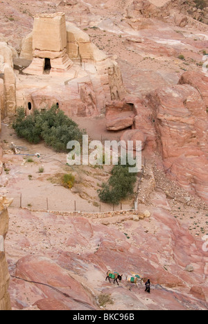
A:
POLYGON ((189 84, 157 89, 147 96, 166 173, 208 201, 208 118, 199 91, 189 84))

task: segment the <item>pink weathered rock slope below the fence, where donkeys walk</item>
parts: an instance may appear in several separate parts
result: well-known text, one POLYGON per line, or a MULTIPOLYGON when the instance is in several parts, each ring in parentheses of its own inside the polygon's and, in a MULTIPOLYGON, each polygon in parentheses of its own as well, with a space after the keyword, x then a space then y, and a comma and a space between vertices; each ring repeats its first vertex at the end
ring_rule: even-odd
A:
MULTIPOLYGON (((165 206, 164 195, 160 199, 161 206, 165 206)), ((6 242, 10 271, 23 279, 56 287, 95 308, 94 296, 103 292, 114 299, 107 309, 206 309, 207 255, 202 251, 203 242, 192 237, 162 207, 148 208, 138 216, 149 214, 137 222, 134 215, 129 215, 121 222, 122 215, 87 219, 11 210, 12 225, 6 242), (17 218, 20 227, 15 224, 17 218), (101 224, 104 220, 107 226, 101 224), (31 255, 28 247, 19 246, 23 232, 33 246, 31 255), (194 267, 191 273, 185 271, 189 264, 194 267), (120 287, 105 282, 108 269, 123 273, 123 278, 130 273, 150 278, 153 290, 149 302, 143 286, 129 286, 125 279, 119 282, 120 287)), ((14 278, 10 295, 14 309, 30 305, 81 309, 78 303, 49 287, 14 278)))

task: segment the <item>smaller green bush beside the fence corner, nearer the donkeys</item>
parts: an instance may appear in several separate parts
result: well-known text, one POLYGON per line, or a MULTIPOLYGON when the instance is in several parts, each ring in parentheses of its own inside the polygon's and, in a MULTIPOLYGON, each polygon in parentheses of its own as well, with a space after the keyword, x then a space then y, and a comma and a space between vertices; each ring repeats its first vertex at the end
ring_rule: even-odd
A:
MULTIPOLYGON (((98 196, 106 204, 119 204, 123 199, 134 193, 134 186, 137 181, 137 174, 129 172, 130 165, 114 165, 111 177, 103 188, 98 190, 98 196)), ((131 165, 132 167, 132 165, 131 165)))

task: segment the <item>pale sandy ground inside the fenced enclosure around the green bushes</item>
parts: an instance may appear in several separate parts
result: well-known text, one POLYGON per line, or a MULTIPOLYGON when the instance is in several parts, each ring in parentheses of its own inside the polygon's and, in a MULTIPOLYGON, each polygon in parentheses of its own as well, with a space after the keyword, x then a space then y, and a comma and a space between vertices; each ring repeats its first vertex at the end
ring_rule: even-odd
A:
MULTIPOLYGON (((116 139, 113 134, 108 136, 105 131, 103 118, 99 120, 94 127, 95 120, 87 121, 85 118, 76 119, 76 122, 82 128, 87 128, 89 136, 92 139, 100 140, 116 139), (103 127, 103 132, 101 130, 103 127)), ((119 139, 119 134, 116 135, 119 139)), ((93 166, 74 165, 69 167, 67 163, 67 154, 55 153, 44 143, 31 145, 30 143, 17 138, 13 129, 5 124, 2 125, 1 141, 3 149, 10 148, 13 142, 22 150, 20 154, 41 154, 40 159, 35 156, 15 155, 10 152, 4 156, 5 170, 8 174, 3 176, 5 183, 1 184, 0 192, 14 199, 12 206, 30 207, 33 209, 49 210, 80 210, 86 212, 98 212, 101 210, 119 210, 121 206, 109 206, 101 203, 98 198, 97 190, 101 188, 103 182, 110 177, 111 166, 103 168, 94 168, 93 166), (27 162, 28 159, 33 162, 27 162), (44 168, 40 173, 39 168, 44 168), (9 170, 9 171, 8 171, 9 170), (60 174, 72 173, 76 177, 76 183, 71 190, 60 185, 60 174), (48 199, 48 203, 47 203, 48 199)), ((135 188, 137 188, 135 186, 135 188)), ((130 209, 134 206, 133 201, 123 201, 123 209, 130 209)))

